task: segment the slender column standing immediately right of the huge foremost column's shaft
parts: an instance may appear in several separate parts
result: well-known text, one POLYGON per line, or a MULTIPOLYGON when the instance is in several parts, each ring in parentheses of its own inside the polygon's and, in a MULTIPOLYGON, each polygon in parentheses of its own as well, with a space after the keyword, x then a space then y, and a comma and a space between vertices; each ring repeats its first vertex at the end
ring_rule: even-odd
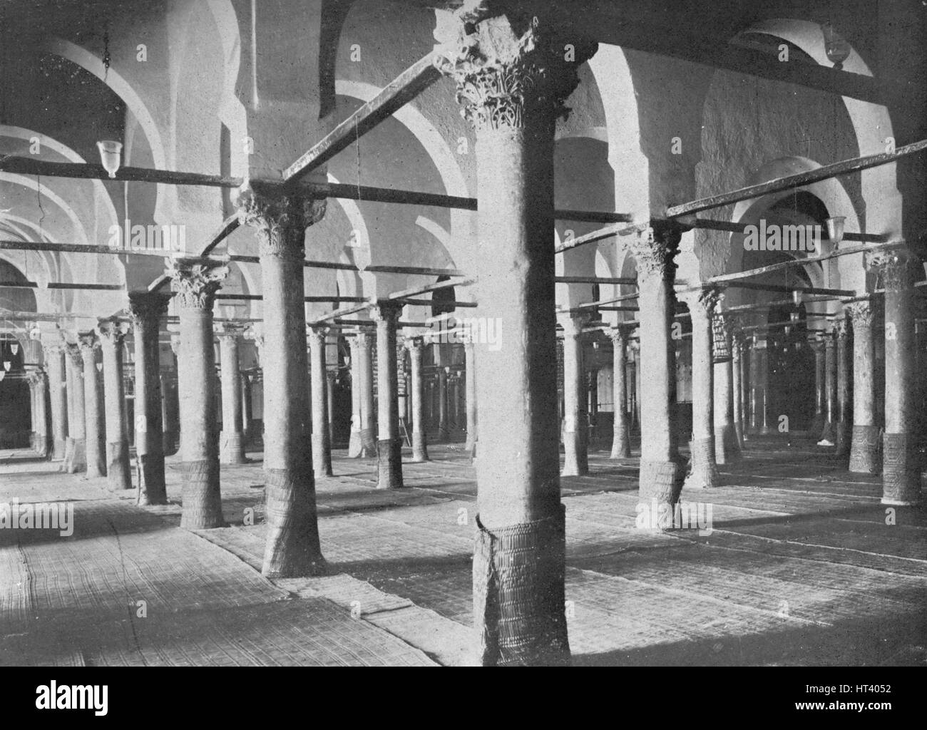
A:
POLYGON ((582 328, 588 315, 560 318, 564 328, 564 471, 561 476, 589 473, 586 379, 583 377, 582 328))

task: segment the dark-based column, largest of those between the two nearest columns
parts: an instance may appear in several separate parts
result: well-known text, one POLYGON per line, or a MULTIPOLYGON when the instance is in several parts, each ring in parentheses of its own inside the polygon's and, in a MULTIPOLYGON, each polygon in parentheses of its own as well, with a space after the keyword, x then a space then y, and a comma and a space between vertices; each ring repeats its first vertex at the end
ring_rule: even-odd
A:
POLYGON ((402 486, 402 438, 396 382, 396 324, 402 305, 381 301, 371 309, 376 321, 377 489, 402 486))

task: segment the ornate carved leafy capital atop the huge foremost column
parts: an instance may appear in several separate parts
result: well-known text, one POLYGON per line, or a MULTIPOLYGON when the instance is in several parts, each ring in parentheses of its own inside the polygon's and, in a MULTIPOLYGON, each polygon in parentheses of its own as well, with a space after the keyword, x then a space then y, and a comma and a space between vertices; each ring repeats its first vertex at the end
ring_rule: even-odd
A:
POLYGON ((446 43, 435 66, 457 83, 461 114, 477 132, 522 129, 538 115, 565 116, 577 70, 598 48, 562 35, 567 17, 553 3, 536 3, 544 10, 537 14, 519 5, 466 0, 455 13, 452 37, 441 39, 446 43))

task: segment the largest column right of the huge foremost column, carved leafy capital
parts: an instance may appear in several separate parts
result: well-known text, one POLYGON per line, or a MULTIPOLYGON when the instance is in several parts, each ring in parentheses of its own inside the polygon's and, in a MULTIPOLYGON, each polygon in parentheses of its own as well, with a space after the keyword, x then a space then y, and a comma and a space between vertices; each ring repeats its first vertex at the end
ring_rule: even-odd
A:
POLYGON ((655 225, 650 231, 630 244, 641 293, 640 500, 641 508, 652 516, 647 525, 662 529, 670 525, 685 478, 677 443, 676 358, 670 337, 676 302, 673 258, 680 233, 670 224, 655 225))

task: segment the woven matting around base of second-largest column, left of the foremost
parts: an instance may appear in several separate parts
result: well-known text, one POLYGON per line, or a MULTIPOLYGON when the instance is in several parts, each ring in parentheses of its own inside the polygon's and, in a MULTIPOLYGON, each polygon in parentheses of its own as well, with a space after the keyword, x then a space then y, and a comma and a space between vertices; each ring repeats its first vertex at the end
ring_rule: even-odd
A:
POLYGON ((315 484, 302 470, 265 469, 267 542, 261 573, 272 578, 298 578, 327 573, 319 547, 315 484))

